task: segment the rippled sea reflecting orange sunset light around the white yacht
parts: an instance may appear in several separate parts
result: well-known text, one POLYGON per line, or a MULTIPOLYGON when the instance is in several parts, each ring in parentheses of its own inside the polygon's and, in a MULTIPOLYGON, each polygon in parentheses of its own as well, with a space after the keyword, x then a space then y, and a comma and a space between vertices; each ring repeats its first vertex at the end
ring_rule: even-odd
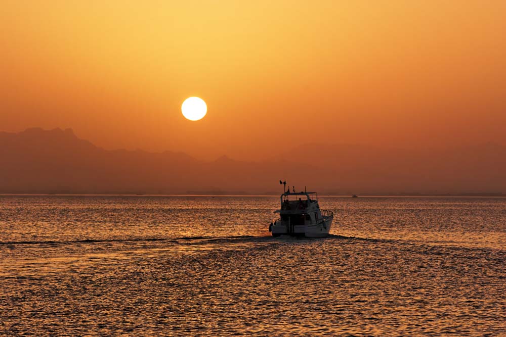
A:
POLYGON ((506 336, 506 198, 0 196, 2 336, 506 336))

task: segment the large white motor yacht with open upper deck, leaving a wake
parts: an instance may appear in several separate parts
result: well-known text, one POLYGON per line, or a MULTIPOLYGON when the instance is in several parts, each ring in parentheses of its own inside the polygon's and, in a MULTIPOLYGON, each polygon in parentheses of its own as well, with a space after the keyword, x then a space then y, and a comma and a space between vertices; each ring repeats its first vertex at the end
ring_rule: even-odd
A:
POLYGON ((320 210, 316 192, 296 192, 295 188, 293 192, 290 192, 288 186, 288 190, 280 196, 280 202, 280 209, 274 212, 279 214, 279 218, 272 220, 269 225, 272 236, 325 237, 328 235, 334 213, 320 210))

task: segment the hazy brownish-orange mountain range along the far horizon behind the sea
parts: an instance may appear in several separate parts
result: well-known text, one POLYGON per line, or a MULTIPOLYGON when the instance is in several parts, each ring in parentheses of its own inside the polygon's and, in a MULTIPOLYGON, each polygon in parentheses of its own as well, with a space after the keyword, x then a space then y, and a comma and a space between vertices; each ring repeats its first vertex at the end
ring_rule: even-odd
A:
POLYGON ((273 142, 266 160, 104 150, 71 129, 0 132, 0 193, 279 194, 279 179, 323 194, 504 194, 506 147, 409 150, 273 142), (276 150, 278 149, 278 150, 276 150))

